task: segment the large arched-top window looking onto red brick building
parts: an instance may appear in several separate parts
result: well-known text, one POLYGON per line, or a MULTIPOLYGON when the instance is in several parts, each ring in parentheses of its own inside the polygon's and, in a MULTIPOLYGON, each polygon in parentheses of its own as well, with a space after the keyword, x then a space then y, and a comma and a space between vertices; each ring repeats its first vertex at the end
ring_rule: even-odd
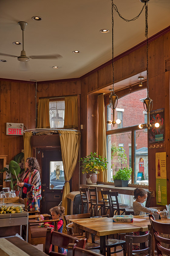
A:
MULTIPOLYGON (((115 120, 122 121, 123 116, 121 127, 107 125, 108 181, 113 181, 115 172, 128 165, 132 168, 131 183, 148 185, 148 131, 138 127, 147 118, 146 112, 143 113, 146 94, 146 89, 143 89, 119 98, 120 108, 116 108, 115 120)), ((112 114, 113 110, 107 105, 107 120, 113 120, 112 114)))

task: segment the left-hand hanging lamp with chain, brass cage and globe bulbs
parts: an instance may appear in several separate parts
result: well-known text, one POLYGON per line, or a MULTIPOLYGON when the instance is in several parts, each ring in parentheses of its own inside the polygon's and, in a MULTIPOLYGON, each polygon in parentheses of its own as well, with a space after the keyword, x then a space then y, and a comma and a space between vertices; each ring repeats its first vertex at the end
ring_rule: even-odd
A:
POLYGON ((114 4, 113 4, 113 0, 112 1, 112 80, 113 80, 113 87, 112 87, 112 91, 111 94, 109 96, 109 103, 110 103, 110 108, 113 109, 113 121, 109 120, 107 121, 107 124, 111 125, 113 124, 113 126, 115 125, 115 123, 119 124, 121 123, 120 119, 117 119, 115 121, 115 108, 117 107, 117 101, 118 101, 118 96, 114 93, 114 65, 113 65, 113 26, 114 26, 114 20, 113 20, 113 9, 114 9, 114 4))

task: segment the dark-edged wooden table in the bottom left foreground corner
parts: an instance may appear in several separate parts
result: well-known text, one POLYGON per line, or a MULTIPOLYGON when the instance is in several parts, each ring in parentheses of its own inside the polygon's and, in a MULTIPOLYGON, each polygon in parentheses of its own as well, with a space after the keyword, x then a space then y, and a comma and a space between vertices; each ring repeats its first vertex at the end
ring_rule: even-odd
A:
POLYGON ((1 256, 47 256, 43 251, 39 251, 31 244, 23 241, 17 236, 0 238, 1 256))

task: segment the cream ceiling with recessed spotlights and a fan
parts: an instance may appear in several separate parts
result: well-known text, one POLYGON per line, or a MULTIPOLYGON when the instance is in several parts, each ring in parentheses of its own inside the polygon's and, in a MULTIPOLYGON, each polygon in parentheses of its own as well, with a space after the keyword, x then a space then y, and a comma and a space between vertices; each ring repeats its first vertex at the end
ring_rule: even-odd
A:
MULTIPOLYGON (((121 15, 138 15, 139 0, 115 0, 121 15)), ((19 21, 28 23, 25 31, 26 55, 60 54, 61 59, 30 59, 29 70, 21 70, 17 58, 0 55, 0 78, 37 81, 80 77, 112 58, 110 0, 1 0, 0 52, 20 55, 22 31, 19 21), (32 20, 42 17, 42 21, 32 20), (107 34, 100 29, 110 30, 107 34), (72 51, 79 50, 79 54, 72 51), (52 66, 59 66, 53 69, 52 66)), ((148 2, 148 37, 170 25, 170 0, 148 2)), ((131 22, 114 11, 114 57, 145 40, 145 14, 131 22)))

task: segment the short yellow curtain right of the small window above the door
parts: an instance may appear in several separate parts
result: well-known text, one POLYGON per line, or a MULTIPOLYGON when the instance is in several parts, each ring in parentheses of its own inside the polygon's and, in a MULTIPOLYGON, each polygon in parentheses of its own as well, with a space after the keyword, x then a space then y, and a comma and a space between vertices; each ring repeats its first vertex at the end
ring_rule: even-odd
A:
POLYGON ((78 127, 77 96, 65 97, 64 128, 78 127))

